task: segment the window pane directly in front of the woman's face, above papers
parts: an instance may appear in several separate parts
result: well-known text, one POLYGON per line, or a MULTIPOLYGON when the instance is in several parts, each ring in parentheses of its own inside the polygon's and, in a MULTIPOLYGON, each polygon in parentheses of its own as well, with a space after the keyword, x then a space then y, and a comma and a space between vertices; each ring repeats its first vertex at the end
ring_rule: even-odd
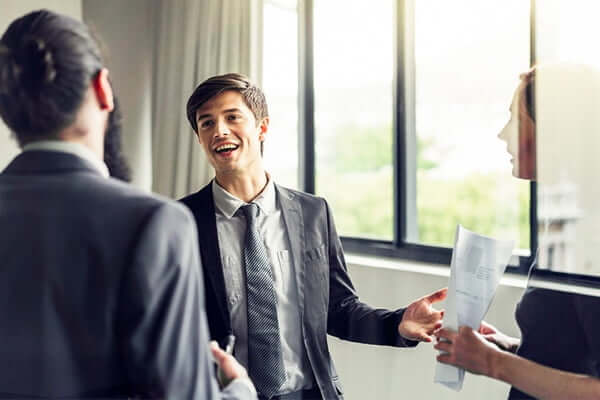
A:
POLYGON ((528 249, 529 184, 497 135, 529 67, 529 2, 414 3, 415 241, 450 247, 460 223, 528 249))

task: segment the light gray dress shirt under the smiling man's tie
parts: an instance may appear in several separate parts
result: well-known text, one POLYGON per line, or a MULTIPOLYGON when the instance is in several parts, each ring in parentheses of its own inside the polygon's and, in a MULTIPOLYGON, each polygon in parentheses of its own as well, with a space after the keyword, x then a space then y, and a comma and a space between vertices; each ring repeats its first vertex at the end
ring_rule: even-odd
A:
MULTIPOLYGON (((212 192, 227 304, 233 334, 236 336, 235 355, 247 368, 248 316, 246 273, 242 254, 246 219, 243 212, 238 211, 246 203, 219 186, 216 180, 212 182, 212 192)), ((275 186, 270 178, 262 193, 252 203, 257 204, 259 208, 257 228, 267 248, 275 280, 281 349, 287 378, 281 393, 308 389, 313 387, 314 380, 303 346, 294 263, 281 206, 276 199, 275 186)))

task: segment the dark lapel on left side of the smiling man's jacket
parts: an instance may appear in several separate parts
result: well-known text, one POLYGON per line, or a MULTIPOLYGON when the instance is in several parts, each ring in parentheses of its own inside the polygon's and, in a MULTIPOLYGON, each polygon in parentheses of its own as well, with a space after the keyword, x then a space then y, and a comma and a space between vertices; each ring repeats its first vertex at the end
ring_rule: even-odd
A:
POLYGON ((226 327, 227 331, 230 331, 231 319, 227 307, 225 278, 223 275, 223 265, 221 264, 217 218, 211 185, 208 184, 205 186, 198 194, 199 204, 198 207, 194 207, 194 213, 201 215, 201 218, 196 217, 196 222, 198 223, 202 265, 205 275, 207 275, 207 279, 214 289, 215 300, 219 308, 219 315, 222 318, 223 326, 226 327))

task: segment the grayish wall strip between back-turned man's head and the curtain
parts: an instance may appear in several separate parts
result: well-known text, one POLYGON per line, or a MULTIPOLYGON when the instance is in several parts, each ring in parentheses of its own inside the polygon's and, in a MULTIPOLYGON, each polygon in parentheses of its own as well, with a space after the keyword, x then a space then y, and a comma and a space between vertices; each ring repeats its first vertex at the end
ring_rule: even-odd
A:
MULTIPOLYGON (((83 0, 84 21, 107 50, 107 66, 123 109, 123 147, 133 184, 152 184, 152 75, 156 0, 83 0)), ((168 134, 165 133, 165 134, 168 134)))

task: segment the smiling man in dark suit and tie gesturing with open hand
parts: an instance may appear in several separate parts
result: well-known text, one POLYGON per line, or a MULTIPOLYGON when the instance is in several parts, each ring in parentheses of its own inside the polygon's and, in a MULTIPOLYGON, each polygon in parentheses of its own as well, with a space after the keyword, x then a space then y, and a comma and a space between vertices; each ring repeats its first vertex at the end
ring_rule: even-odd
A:
POLYGON ((239 74, 212 77, 187 104, 215 179, 181 201, 199 230, 210 334, 234 335, 261 399, 343 399, 327 334, 355 342, 431 341, 445 289, 395 311, 360 302, 327 202, 273 182, 262 147, 262 91, 239 74))

